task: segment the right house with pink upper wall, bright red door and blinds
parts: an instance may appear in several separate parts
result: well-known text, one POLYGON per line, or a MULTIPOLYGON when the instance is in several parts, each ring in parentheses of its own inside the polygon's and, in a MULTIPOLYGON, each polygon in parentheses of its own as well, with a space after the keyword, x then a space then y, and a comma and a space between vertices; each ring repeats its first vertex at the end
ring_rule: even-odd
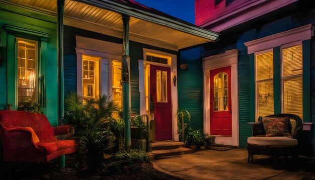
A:
POLYGON ((179 98, 179 107, 199 114, 196 127, 217 135, 216 143, 241 147, 259 116, 297 114, 300 152, 314 155, 314 4, 196 0, 195 10, 196 25, 220 33, 220 41, 180 51, 179 64, 198 71, 179 70, 179 82, 198 77, 179 84, 179 94, 198 95, 179 98), (203 106, 187 104, 194 100, 203 106))

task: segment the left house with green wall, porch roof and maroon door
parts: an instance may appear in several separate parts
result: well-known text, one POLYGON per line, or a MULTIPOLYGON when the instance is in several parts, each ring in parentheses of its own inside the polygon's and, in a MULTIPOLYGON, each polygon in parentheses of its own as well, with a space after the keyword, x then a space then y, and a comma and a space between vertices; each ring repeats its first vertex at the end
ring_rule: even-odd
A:
POLYGON ((0 0, 0 29, 0 109, 40 101, 56 126, 72 90, 111 95, 118 106, 125 96, 131 112, 149 115, 155 140, 178 140, 179 51, 219 36, 132 0, 0 0), (130 57, 130 92, 122 55, 130 57))

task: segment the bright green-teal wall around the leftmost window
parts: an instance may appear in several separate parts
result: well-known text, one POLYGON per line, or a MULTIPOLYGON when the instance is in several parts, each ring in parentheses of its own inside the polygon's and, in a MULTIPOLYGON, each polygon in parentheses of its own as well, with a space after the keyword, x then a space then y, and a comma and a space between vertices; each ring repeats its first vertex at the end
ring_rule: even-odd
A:
MULTIPOLYGON (((3 66, 0 68, 0 109, 6 109, 9 98, 10 103, 12 99, 16 99, 15 89, 17 79, 8 76, 8 73, 14 73, 15 62, 17 62, 15 48, 15 39, 26 38, 38 41, 38 51, 41 52, 38 66, 38 75, 45 76, 45 92, 46 92, 46 106, 42 108, 43 113, 48 117, 53 126, 57 125, 57 60, 56 60, 56 19, 43 14, 27 11, 21 7, 14 7, 12 5, 0 3, 0 28, 2 29, 2 40, 7 42, 1 43, 0 51, 3 55, 3 66), (26 32, 6 32, 5 25, 12 25, 24 28, 26 32), (47 42, 41 41, 41 37, 36 33, 30 33, 28 30, 48 33, 47 42), (3 32, 6 32, 3 34, 3 32), (13 39, 7 37, 13 37, 13 39), (8 41, 7 41, 8 40, 8 41), (45 50, 43 49, 45 48, 45 50), (9 59, 10 57, 10 59, 9 59), (10 63, 9 63, 10 61, 10 63), (14 66, 8 67, 9 64, 14 66), (7 77, 8 76, 8 77, 7 77), (8 80, 10 83, 8 83, 8 80), (9 87, 8 87, 9 84, 9 87), (13 84, 13 85, 10 85, 13 84), (8 89, 9 88, 9 89, 8 89), (11 93, 12 95, 8 95, 11 93), (8 98, 9 96, 9 98, 8 98)), ((15 107, 14 103, 14 107, 15 107)))

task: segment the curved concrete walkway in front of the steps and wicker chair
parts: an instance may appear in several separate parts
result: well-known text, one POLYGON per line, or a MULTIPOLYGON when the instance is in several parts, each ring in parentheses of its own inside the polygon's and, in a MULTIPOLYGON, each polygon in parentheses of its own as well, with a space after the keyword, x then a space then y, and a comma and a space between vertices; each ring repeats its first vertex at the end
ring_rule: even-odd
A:
MULTIPOLYGON (((302 171, 274 170, 272 166, 247 162, 247 149, 202 149, 193 154, 155 160, 155 169, 182 179, 301 179, 302 171)), ((268 156, 255 155, 254 160, 268 156)), ((283 159, 282 159, 283 160, 283 159)))

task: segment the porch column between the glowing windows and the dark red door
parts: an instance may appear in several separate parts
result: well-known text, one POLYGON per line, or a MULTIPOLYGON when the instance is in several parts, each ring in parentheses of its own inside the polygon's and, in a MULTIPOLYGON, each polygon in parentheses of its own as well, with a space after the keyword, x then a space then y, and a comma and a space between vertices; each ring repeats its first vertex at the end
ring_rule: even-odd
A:
POLYGON ((122 111, 123 119, 125 121, 125 149, 130 149, 131 137, 130 137, 130 115, 129 115, 129 70, 128 62, 129 57, 129 16, 122 15, 123 21, 123 46, 121 57, 121 79, 122 79, 122 111))

